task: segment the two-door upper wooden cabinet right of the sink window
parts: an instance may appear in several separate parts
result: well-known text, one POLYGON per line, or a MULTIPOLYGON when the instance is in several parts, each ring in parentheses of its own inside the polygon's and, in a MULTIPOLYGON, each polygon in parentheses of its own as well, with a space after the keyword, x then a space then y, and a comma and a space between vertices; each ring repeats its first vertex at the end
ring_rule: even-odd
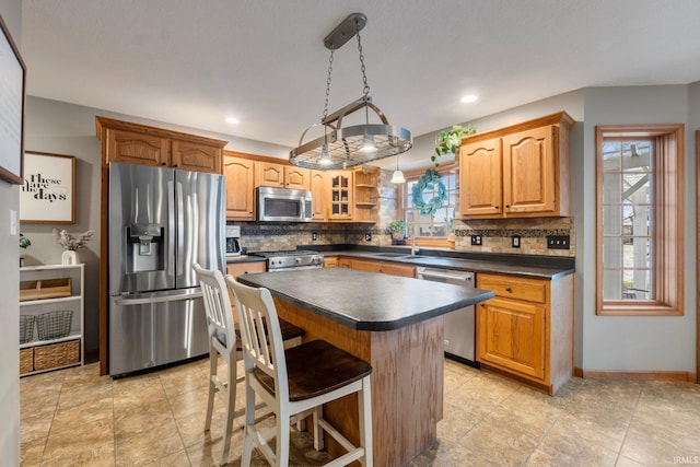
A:
POLYGON ((464 218, 569 215, 565 113, 464 139, 459 211, 464 218))

